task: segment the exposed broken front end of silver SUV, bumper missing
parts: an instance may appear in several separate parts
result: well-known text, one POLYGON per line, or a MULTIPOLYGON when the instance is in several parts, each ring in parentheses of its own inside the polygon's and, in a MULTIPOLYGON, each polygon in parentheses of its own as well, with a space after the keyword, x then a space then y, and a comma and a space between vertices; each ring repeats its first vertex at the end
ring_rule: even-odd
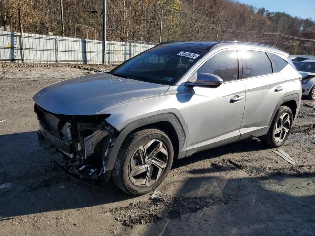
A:
POLYGON ((106 122, 109 114, 53 114, 36 104, 35 112, 40 144, 59 166, 81 179, 105 177, 107 158, 118 134, 106 122))

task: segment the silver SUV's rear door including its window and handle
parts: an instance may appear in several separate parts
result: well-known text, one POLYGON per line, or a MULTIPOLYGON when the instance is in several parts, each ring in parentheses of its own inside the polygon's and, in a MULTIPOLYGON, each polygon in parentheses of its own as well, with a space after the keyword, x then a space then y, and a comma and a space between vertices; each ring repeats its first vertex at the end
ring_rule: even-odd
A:
POLYGON ((241 138, 260 136, 268 131, 272 114, 286 94, 285 80, 263 51, 241 50, 246 88, 241 138))

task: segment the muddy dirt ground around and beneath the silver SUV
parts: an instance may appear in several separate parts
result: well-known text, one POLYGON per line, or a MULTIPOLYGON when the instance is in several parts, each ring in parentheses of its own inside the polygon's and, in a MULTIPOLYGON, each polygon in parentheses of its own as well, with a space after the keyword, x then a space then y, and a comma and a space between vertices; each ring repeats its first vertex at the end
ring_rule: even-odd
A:
POLYGON ((67 177, 38 145, 32 95, 107 69, 0 64, 0 235, 315 235, 311 101, 282 147, 296 165, 249 139, 176 161, 162 198, 67 177))

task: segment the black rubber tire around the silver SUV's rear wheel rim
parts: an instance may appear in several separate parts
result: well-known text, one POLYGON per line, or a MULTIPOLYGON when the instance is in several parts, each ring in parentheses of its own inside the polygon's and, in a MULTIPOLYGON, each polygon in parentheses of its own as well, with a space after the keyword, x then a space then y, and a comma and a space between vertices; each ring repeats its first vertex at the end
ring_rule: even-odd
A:
POLYGON ((287 140, 287 138, 289 137, 289 134, 291 133, 291 128, 292 128, 292 123, 293 123, 293 114, 292 114, 292 111, 289 107, 287 106, 281 106, 279 107, 275 117, 273 118, 272 120, 272 123, 270 125, 270 128, 268 130, 268 133, 262 137, 260 137, 260 140, 267 146, 271 147, 271 148, 277 148, 277 147, 280 147, 282 146, 285 141, 287 140), (290 124, 290 127, 289 127, 289 131, 286 135, 286 137, 283 139, 282 142, 276 142, 275 140, 275 128, 276 128, 276 124, 277 124, 277 121, 279 120, 279 118, 284 114, 284 113, 288 113, 289 116, 290 116, 290 119, 291 119, 291 124, 290 124))

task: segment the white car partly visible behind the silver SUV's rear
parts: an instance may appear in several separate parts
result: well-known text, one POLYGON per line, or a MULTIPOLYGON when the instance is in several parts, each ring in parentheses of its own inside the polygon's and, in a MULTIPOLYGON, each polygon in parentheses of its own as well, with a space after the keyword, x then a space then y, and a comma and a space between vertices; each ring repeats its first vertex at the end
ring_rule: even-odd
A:
POLYGON ((315 59, 301 61, 295 67, 302 75, 302 95, 315 100, 315 59))

